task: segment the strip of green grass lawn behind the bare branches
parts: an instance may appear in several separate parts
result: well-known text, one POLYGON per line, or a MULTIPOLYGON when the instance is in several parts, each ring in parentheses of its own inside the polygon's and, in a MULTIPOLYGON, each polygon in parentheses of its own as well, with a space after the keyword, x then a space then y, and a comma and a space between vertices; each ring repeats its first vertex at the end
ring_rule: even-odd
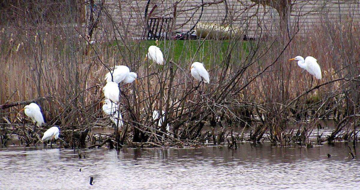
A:
MULTIPOLYGON (((206 65, 218 65, 230 51, 232 60, 247 56, 249 54, 249 43, 251 42, 229 40, 161 40, 159 41, 159 48, 167 61, 172 60, 179 64, 199 61, 206 65)), ((129 52, 130 54, 135 52, 140 57, 145 57, 147 49, 151 45, 156 45, 154 40, 133 41, 127 47, 122 42, 114 41, 111 43, 115 50, 129 52)), ((128 54, 124 53, 124 56, 128 56, 128 54)))

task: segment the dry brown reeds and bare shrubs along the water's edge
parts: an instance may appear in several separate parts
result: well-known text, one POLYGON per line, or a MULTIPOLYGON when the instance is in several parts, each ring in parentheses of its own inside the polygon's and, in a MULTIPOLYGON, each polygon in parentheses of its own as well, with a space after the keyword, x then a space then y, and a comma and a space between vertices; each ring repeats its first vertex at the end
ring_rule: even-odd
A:
MULTIPOLYGON (((121 87, 120 109, 126 127, 119 132, 121 138, 114 139, 120 144, 234 142, 230 135, 234 121, 252 128, 250 136, 237 140, 310 143, 308 136, 318 128, 319 118, 325 117, 332 117, 338 126, 333 135, 319 138, 319 142, 357 140, 359 30, 353 26, 330 30, 326 24, 330 23, 324 22, 323 30, 311 32, 307 38, 295 37, 285 46, 277 39, 253 41, 248 54, 235 48, 235 44, 242 43, 239 39, 229 41, 223 56, 218 43, 210 43, 208 52, 200 46, 192 57, 185 53, 192 47, 184 46, 178 62, 173 61, 171 51, 174 41, 161 41, 167 60, 163 67, 143 62, 146 52, 142 50, 146 47, 131 39, 109 45, 112 41, 104 37, 90 46, 71 28, 3 30, 0 56, 1 68, 5 69, 0 102, 47 97, 37 103, 47 124, 60 126, 65 143, 85 146, 88 138, 95 144, 91 128, 110 124, 99 104, 103 100, 104 75, 108 67, 127 65, 138 73, 140 83, 121 87), (296 62, 287 61, 296 55, 316 57, 323 79, 311 84, 308 73, 302 72, 296 62), (208 61, 211 84, 200 84, 196 89, 199 83, 193 82, 189 66, 203 60, 208 61), (166 111, 165 124, 158 130, 154 129, 153 110, 166 111), (289 128, 292 122, 299 122, 298 127, 289 128), (165 133, 166 123, 171 125, 171 135, 165 133), (209 132, 204 130, 205 125, 222 128, 209 132)), ((22 107, 1 110, 3 122, 24 122, 23 113, 18 113, 22 107)), ((4 138, 9 132, 6 126, 1 128, 4 138)), ((26 136, 21 132, 18 135, 26 136)))

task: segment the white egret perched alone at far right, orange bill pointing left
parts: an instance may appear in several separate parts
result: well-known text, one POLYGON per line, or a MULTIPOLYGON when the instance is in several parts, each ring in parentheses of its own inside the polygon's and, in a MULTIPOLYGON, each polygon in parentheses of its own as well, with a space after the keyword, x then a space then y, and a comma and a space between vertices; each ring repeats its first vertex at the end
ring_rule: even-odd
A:
POLYGON ((323 78, 321 76, 321 69, 318 64, 318 60, 316 60, 314 57, 307 56, 304 60, 301 56, 296 56, 293 59, 289 59, 289 61, 292 60, 298 60, 297 65, 299 65, 301 68, 307 70, 311 75, 316 77, 317 79, 323 78))

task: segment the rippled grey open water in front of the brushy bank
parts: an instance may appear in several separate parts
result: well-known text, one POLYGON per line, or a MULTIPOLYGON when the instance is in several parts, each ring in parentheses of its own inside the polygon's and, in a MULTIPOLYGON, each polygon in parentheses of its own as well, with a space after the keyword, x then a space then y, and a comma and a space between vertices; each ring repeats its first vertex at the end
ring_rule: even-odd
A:
POLYGON ((0 189, 357 189, 360 162, 348 155, 345 143, 308 149, 267 143, 236 150, 0 149, 0 189))

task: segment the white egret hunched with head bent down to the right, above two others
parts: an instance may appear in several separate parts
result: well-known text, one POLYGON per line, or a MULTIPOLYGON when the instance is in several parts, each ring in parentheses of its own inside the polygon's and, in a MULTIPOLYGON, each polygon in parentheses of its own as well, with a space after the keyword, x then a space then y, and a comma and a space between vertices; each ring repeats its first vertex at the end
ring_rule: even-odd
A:
POLYGON ((138 75, 134 72, 130 72, 130 69, 125 65, 116 65, 113 71, 110 71, 105 75, 106 82, 115 82, 117 84, 121 82, 125 84, 132 83, 134 80, 138 83, 136 78, 138 78, 138 75))

